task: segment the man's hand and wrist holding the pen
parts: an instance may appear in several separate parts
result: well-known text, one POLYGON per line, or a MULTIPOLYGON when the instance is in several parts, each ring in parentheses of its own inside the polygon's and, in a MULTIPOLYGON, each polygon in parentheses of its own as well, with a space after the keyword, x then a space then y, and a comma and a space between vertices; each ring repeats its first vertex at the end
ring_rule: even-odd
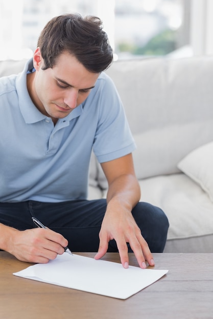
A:
POLYGON ((51 229, 33 228, 17 230, 1 224, 1 249, 17 259, 28 262, 47 263, 64 253, 67 240, 51 229))

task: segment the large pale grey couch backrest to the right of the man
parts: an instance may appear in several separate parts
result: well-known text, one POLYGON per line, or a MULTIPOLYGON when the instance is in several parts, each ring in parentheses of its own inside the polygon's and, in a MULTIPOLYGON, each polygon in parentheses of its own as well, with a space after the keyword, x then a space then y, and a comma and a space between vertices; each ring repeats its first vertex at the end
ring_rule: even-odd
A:
POLYGON ((107 70, 138 150, 138 178, 179 172, 177 164, 213 140, 213 57, 117 61, 107 70))

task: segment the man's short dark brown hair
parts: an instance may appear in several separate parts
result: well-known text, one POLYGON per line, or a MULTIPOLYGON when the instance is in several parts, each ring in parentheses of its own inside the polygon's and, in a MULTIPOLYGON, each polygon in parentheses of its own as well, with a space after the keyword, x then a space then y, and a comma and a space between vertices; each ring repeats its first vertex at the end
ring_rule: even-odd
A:
POLYGON ((112 48, 98 17, 80 14, 64 14, 51 19, 38 39, 43 69, 52 68, 62 52, 83 64, 90 72, 99 73, 112 62, 112 48))

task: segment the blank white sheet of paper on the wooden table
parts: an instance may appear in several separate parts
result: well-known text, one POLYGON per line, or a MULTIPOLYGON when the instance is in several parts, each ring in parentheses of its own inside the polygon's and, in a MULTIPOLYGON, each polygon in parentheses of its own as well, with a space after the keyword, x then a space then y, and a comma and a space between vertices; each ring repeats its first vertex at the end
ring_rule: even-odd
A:
POLYGON ((113 298, 127 299, 157 281, 168 270, 140 269, 94 258, 64 253, 48 263, 38 263, 13 275, 87 291, 113 298))

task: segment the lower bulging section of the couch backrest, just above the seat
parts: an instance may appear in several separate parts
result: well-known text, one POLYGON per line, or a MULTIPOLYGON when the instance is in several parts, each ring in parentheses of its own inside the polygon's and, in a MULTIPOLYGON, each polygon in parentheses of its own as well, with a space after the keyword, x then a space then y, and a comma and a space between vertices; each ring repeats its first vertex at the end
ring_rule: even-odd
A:
POLYGON ((174 163, 180 162, 188 150, 193 150, 203 140, 208 141, 212 125, 212 120, 181 127, 174 124, 135 134, 137 148, 133 159, 137 178, 180 172, 174 163))

